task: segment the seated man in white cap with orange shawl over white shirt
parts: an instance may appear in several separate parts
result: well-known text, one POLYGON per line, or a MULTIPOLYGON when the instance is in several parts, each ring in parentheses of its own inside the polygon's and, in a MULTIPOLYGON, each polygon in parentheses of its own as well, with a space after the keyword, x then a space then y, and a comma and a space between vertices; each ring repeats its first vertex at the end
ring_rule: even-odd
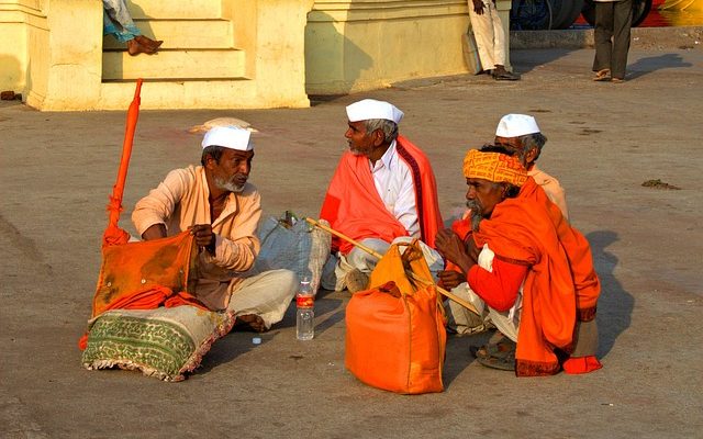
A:
MULTIPOLYGON (((398 134, 403 112, 372 99, 353 103, 346 111, 349 150, 330 182, 320 217, 380 254, 397 238, 420 238, 431 270, 440 270, 442 257, 431 248, 443 224, 435 177, 424 153, 398 134)), ((325 275, 323 286, 365 289, 376 258, 337 238, 332 247, 335 258, 327 267, 335 266, 335 275, 325 275), (334 286, 330 278, 336 278, 334 286)))

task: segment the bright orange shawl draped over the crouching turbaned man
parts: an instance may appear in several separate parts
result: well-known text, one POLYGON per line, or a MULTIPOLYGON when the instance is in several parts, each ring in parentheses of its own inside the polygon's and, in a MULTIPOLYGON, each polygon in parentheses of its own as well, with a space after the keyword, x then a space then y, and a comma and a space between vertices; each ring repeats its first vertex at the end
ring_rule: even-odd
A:
POLYGON ((589 243, 532 178, 473 233, 498 258, 527 263, 515 353, 518 376, 559 371, 555 348, 570 352, 577 319, 592 320, 601 288, 589 243))

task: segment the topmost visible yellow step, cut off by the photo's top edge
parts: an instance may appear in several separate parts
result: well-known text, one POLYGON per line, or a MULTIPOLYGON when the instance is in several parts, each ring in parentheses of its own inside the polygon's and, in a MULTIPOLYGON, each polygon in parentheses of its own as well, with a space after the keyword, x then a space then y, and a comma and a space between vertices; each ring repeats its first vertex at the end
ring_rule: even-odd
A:
POLYGON ((219 19, 222 16, 222 0, 150 0, 140 4, 127 0, 132 18, 147 19, 219 19))

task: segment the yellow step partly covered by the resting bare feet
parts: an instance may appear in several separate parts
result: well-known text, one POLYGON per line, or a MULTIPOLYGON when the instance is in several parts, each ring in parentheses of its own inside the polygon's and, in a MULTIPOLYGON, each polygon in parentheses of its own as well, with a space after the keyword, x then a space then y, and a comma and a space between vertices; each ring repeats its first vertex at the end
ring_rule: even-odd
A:
MULTIPOLYGON (((232 48, 232 22, 228 20, 135 20, 142 33, 163 40, 161 48, 232 48)), ((103 38, 104 49, 124 49, 112 36, 103 38)))

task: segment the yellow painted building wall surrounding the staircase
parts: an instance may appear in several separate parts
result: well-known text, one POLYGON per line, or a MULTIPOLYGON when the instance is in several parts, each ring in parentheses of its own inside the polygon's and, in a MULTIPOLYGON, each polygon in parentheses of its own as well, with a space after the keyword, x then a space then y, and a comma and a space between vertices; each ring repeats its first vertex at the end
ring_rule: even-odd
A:
MULTIPOLYGON (((217 2, 208 4, 232 21, 243 77, 152 81, 144 109, 306 106, 308 94, 467 71, 466 0, 202 1, 217 2)), ((507 27, 510 0, 498 3, 507 27)), ((124 109, 134 87, 103 80, 102 43, 100 0, 0 0, 0 90, 21 92, 40 110, 124 109)), ((144 60, 158 63, 158 55, 144 60)))

